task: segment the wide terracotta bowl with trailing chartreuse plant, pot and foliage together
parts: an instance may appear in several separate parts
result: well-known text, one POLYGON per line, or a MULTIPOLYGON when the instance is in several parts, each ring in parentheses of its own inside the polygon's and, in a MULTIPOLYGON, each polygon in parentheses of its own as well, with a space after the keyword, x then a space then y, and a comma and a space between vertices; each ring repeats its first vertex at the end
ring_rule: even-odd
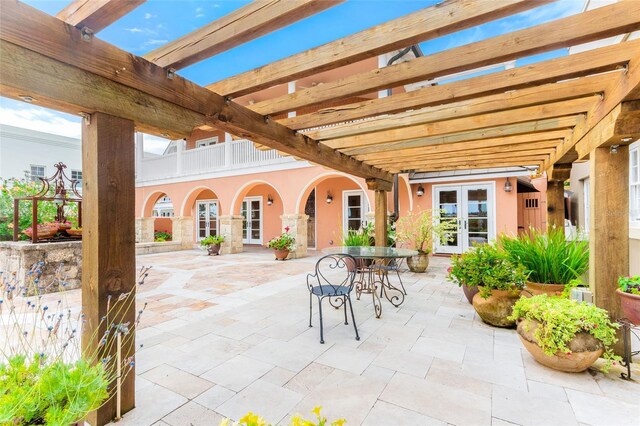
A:
POLYGON ((555 370, 585 371, 603 354, 608 365, 619 359, 611 350, 619 326, 595 305, 539 294, 518 300, 511 319, 535 360, 555 370))

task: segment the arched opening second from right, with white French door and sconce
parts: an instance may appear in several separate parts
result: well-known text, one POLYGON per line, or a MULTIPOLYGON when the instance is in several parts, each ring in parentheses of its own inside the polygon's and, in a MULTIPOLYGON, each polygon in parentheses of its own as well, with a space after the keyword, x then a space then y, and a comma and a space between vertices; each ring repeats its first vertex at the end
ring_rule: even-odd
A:
POLYGON ((279 191, 265 181, 243 185, 233 199, 232 212, 243 216, 243 244, 265 245, 282 232, 283 200, 279 191))

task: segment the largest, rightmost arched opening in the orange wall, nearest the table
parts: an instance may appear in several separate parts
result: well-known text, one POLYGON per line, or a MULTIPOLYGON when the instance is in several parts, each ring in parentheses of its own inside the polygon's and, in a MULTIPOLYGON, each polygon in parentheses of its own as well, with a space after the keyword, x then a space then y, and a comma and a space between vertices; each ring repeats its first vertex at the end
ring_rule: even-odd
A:
POLYGON ((327 173, 309 182, 298 197, 297 212, 309 216, 307 247, 323 249, 341 244, 347 229, 367 222, 369 193, 352 176, 327 173))

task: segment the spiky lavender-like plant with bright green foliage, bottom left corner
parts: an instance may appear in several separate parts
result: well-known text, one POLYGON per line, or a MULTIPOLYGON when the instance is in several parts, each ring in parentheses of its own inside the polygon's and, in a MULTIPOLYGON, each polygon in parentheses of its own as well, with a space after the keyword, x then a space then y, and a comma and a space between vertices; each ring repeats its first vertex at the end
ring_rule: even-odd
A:
POLYGON ((133 324, 116 317, 135 303, 135 291, 109 296, 106 315, 88 329, 82 311, 66 303, 64 277, 43 279, 44 266, 34 264, 24 282, 0 273, 0 424, 73 424, 114 396, 110 383, 134 366, 133 355, 118 362, 111 354, 133 347, 129 329, 144 307, 133 324), (88 345, 81 352, 83 331, 88 345))

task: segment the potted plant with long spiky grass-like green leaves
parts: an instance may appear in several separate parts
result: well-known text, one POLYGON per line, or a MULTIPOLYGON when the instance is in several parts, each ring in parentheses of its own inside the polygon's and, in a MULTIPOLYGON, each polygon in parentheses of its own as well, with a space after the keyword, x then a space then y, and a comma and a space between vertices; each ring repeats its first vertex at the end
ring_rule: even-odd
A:
POLYGON ((589 242, 567 240, 564 229, 546 233, 529 229, 518 237, 501 236, 499 244, 512 262, 529 274, 525 296, 560 295, 565 286, 589 268, 589 242))

